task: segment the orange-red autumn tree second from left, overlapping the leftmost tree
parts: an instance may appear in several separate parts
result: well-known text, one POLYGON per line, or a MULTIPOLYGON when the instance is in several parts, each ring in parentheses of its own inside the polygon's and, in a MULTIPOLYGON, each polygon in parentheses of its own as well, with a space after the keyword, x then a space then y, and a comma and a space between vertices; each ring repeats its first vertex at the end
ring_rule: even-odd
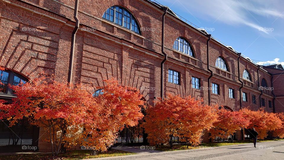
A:
POLYGON ((136 88, 119 85, 114 79, 104 80, 102 95, 94 97, 99 106, 89 109, 92 116, 84 125, 84 146, 91 147, 92 154, 106 151, 115 143, 119 131, 124 127, 138 125, 143 118, 141 108, 144 105, 142 95, 136 88), (94 126, 96 126, 94 128, 94 126))

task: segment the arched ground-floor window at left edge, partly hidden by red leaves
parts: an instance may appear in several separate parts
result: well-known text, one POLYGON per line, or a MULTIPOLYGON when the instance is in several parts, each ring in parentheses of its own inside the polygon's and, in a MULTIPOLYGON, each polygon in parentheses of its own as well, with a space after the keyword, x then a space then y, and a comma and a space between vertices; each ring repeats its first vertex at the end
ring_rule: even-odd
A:
POLYGON ((19 85, 19 84, 25 84, 28 79, 25 77, 21 76, 18 73, 14 73, 9 70, 5 71, 0 71, 0 97, 1 95, 13 95, 12 89, 8 87, 8 84, 13 84, 13 85, 19 85))

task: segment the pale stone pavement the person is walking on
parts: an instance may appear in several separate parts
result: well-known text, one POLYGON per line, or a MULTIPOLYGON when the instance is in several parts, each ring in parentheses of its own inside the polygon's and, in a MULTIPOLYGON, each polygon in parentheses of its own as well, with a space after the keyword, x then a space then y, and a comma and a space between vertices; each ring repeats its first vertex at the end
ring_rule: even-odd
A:
POLYGON ((209 147, 202 149, 192 149, 183 151, 169 151, 159 153, 142 153, 128 156, 117 156, 107 158, 97 158, 94 160, 174 160, 174 159, 210 159, 210 160, 232 160, 232 159, 284 159, 284 141, 257 143, 256 148, 253 143, 241 145, 228 145, 222 147, 209 147))

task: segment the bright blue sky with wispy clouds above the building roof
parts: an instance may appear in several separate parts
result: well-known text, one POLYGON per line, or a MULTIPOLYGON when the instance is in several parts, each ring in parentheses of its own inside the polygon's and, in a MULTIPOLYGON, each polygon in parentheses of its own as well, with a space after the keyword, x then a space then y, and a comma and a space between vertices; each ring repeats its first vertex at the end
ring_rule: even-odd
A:
POLYGON ((252 60, 284 65, 283 0, 156 0, 252 60))

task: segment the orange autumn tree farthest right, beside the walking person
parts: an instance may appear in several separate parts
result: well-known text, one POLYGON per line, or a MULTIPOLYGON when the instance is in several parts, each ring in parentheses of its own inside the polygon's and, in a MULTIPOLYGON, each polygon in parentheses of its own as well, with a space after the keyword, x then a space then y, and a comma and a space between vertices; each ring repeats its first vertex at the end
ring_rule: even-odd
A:
POLYGON ((243 116, 250 121, 247 128, 255 128, 259 133, 259 139, 267 137, 268 131, 280 129, 282 126, 282 121, 275 113, 268 113, 263 109, 251 111, 247 108, 242 109, 241 112, 243 113, 243 116))

